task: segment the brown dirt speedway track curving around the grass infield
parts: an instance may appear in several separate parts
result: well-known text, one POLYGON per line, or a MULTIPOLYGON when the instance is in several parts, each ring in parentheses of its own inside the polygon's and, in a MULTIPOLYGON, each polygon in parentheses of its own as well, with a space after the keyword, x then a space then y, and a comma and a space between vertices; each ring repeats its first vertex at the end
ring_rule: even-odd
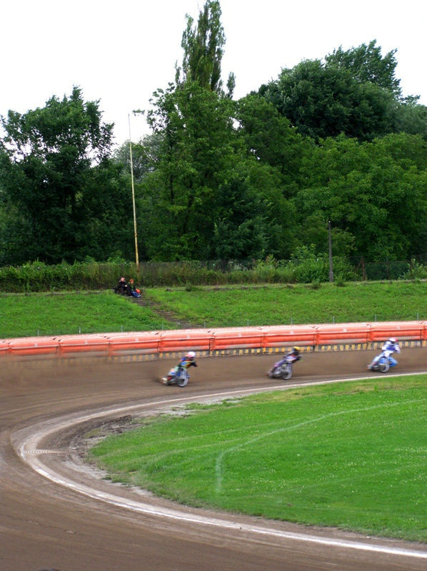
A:
MULTIPOLYGON (((309 353, 286 382, 275 355, 206 357, 186 388, 159 378, 175 361, 0 360, 1 571, 421 571, 426 545, 334 529, 190 510, 114 485, 81 460, 101 423, 188 400, 232 398, 366 372, 375 353, 309 353)), ((404 348, 396 374, 427 370, 427 348, 404 348)), ((394 371, 392 370, 391 373, 394 371)), ((387 375, 391 375, 387 373, 387 375)), ((171 435, 173 438, 173 435, 171 435)))

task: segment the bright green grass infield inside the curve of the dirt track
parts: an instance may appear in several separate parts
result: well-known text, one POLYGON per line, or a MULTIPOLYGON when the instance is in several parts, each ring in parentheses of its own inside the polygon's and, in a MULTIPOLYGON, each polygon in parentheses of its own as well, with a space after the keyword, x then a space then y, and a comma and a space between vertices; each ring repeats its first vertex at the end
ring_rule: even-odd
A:
POLYGON ((426 541, 426 379, 189 405, 91 458, 116 482, 186 505, 426 541))

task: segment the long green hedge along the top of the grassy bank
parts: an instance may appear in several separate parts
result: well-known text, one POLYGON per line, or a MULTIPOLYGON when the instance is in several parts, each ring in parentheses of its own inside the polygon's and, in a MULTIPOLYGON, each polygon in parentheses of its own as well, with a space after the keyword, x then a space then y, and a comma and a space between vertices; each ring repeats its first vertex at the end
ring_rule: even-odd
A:
MULTIPOLYGON (((396 275, 375 275, 381 279, 410 279, 408 263, 398 267, 396 275)), ((411 271, 411 274, 413 272, 411 271)), ((416 278, 427 276, 425 266, 418 266, 416 278), (421 271, 423 270, 423 271, 421 271)), ((86 261, 47 266, 35 261, 24 266, 0 268, 0 291, 4 293, 36 293, 46 291, 113 289, 119 278, 134 278, 144 287, 194 287, 197 285, 256 284, 256 283, 312 283, 329 281, 326 258, 312 254, 291 261, 181 261, 181 262, 106 262, 86 261)), ((372 273, 371 273, 372 276, 372 273)), ((369 276, 370 279, 373 277, 369 276)), ((340 258, 333 259, 333 277, 338 285, 346 281, 361 281, 361 276, 340 258)))

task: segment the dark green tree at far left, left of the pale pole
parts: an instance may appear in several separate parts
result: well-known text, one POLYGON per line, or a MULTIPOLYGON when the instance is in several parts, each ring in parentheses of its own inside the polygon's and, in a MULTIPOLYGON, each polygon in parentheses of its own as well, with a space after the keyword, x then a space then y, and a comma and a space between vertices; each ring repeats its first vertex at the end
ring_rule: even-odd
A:
POLYGON ((14 236, 6 263, 108 256, 116 249, 114 235, 108 242, 105 233, 96 235, 96 221, 105 220, 114 203, 120 221, 109 232, 121 234, 127 208, 119 204, 119 172, 109 160, 113 126, 102 123, 99 101, 85 102, 74 87, 71 96, 53 96, 44 108, 9 111, 1 123, 1 187, 15 213, 3 228, 3 240, 14 236))

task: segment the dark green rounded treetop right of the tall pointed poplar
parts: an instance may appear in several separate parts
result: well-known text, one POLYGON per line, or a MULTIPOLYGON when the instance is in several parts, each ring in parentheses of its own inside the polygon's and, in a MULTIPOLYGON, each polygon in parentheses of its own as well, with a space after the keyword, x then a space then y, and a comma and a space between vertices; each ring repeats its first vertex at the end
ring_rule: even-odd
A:
POLYGON ((315 141, 341 133, 370 141, 393 131, 396 99, 381 86, 362 83, 344 67, 305 60, 283 69, 277 81, 259 93, 315 141))

